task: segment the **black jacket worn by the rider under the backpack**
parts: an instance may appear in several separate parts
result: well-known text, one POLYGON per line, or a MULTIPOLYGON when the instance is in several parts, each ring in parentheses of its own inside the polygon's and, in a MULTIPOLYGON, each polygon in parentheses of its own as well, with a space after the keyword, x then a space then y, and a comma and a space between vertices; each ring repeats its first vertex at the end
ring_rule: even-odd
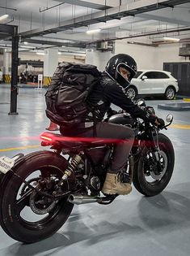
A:
POLYGON ((87 105, 91 106, 89 114, 84 117, 84 121, 74 129, 61 127, 60 131, 66 136, 78 135, 94 127, 95 122, 103 120, 104 115, 110 110, 111 104, 119 106, 122 110, 128 112, 133 117, 139 117, 150 123, 155 122, 155 117, 150 116, 146 111, 141 110, 133 101, 125 95, 122 87, 112 80, 106 72, 101 74, 100 84, 95 85, 87 97, 87 105), (94 112, 94 115, 92 115, 94 112), (96 117, 96 119, 94 118, 96 117), (90 126, 89 126, 90 125, 90 126))

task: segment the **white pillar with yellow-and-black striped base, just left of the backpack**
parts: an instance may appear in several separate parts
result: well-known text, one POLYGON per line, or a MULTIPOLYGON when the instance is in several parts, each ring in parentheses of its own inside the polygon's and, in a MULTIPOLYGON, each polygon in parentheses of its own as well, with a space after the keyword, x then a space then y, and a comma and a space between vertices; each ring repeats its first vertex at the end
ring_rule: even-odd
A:
POLYGON ((50 85, 53 73, 58 66, 58 50, 44 50, 44 85, 50 85))

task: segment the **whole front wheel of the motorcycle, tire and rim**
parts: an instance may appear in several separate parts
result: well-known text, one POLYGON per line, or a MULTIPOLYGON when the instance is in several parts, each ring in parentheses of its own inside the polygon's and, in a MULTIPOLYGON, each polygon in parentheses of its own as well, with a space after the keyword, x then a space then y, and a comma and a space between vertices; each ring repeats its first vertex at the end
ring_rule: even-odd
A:
POLYGON ((158 144, 162 171, 158 170, 154 154, 147 147, 141 151, 134 164, 133 184, 140 193, 148 197, 161 193, 166 188, 174 169, 175 154, 171 141, 159 133, 158 144))

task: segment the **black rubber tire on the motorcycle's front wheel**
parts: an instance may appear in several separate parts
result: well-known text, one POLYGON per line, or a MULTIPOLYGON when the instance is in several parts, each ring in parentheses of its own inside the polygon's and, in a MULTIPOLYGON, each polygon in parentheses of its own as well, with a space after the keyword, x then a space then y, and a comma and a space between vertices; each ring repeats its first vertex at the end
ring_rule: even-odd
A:
POLYGON ((170 139, 163 133, 158 133, 158 145, 161 150, 161 154, 163 155, 164 166, 164 174, 160 179, 155 178, 154 180, 151 180, 151 182, 147 180, 146 171, 148 167, 146 167, 145 161, 146 156, 150 153, 150 149, 148 147, 141 150, 140 155, 134 159, 133 185, 138 192, 146 197, 152 197, 161 193, 171 180, 174 169, 175 153, 170 139))

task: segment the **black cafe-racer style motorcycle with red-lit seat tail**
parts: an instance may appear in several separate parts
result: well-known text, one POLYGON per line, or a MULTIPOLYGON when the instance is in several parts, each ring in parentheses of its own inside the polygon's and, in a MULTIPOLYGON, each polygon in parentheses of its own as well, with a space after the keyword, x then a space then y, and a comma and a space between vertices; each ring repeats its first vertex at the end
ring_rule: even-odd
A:
MULTIPOLYGON (((137 104, 154 113, 143 100, 137 104)), ((161 193, 171 180, 175 153, 160 130, 167 129, 172 120, 167 115, 168 124, 157 127, 125 112, 105 120, 133 128, 135 141, 121 177, 146 197, 161 193)), ((52 236, 69 218, 74 204, 107 205, 118 196, 101 193, 118 140, 53 132, 44 132, 40 140, 51 150, 0 158, 0 223, 8 236, 24 243, 52 236)))

